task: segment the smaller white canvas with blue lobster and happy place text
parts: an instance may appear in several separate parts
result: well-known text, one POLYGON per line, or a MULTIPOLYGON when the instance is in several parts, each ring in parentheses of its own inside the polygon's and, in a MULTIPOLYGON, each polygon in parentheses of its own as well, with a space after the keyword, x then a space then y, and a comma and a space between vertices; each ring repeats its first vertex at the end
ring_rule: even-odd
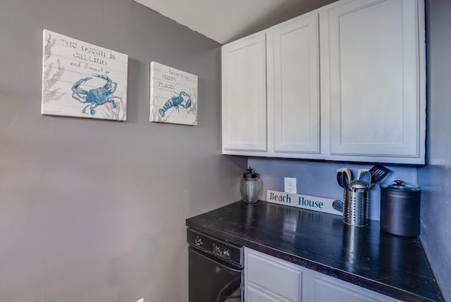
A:
POLYGON ((197 75, 151 62, 149 121, 197 125, 197 75))

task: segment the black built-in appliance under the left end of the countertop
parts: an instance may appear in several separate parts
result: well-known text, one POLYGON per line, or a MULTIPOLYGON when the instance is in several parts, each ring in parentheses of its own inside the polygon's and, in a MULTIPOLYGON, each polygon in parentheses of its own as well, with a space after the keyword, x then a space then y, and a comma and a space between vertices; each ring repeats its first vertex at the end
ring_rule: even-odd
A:
POLYGON ((190 302, 242 302, 243 248, 187 229, 190 302))

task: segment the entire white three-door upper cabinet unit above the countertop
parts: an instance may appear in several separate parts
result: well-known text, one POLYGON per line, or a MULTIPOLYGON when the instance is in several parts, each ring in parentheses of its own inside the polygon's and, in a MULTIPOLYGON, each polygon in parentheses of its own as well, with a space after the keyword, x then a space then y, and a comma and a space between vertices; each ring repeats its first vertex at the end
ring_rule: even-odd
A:
POLYGON ((223 154, 424 164, 424 1, 340 0, 222 54, 223 154))

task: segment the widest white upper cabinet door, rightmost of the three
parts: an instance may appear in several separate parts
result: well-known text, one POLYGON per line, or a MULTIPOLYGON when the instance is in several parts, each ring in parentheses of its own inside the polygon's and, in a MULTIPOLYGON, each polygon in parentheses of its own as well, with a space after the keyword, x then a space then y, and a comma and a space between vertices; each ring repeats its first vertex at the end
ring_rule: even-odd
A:
POLYGON ((424 164, 423 1, 341 1, 321 22, 330 159, 424 164))

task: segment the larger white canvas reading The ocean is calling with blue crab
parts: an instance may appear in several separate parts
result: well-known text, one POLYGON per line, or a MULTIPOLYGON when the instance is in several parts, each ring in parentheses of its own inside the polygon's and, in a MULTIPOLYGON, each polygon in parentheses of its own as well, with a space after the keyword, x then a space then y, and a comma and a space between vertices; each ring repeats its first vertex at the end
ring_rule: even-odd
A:
POLYGON ((44 30, 45 115, 127 119, 128 56, 44 30))

